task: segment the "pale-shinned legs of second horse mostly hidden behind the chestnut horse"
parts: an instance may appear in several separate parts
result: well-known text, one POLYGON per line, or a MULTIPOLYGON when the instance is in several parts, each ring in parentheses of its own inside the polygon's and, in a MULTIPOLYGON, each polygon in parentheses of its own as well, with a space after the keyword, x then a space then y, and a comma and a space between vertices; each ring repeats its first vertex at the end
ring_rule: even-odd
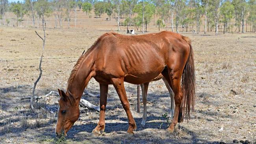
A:
MULTIPOLYGON (((171 112, 170 112, 169 118, 173 119, 174 106, 175 106, 174 105, 174 94, 173 94, 173 90, 169 86, 168 81, 163 77, 162 74, 158 75, 156 78, 152 79, 151 81, 158 81, 160 79, 162 79, 163 82, 165 83, 165 86, 168 89, 168 92, 169 92, 169 95, 170 95, 170 98, 171 98, 171 112)), ((149 82, 151 82, 151 81, 149 81, 149 82)), ((146 118, 147 118, 147 92, 148 92, 149 82, 141 84, 142 102, 143 102, 143 116, 142 116, 141 125, 143 125, 143 126, 145 126, 146 118)))

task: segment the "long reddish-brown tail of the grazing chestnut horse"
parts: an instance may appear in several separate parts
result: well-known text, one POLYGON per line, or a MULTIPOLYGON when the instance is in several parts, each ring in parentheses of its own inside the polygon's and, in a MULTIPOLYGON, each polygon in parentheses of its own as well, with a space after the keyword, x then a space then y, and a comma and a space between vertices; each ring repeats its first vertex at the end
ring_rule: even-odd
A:
MULTIPOLYGON (((179 117, 183 119, 185 116, 186 120, 188 120, 188 118, 190 118, 190 109, 194 111, 195 107, 195 66, 191 40, 185 36, 182 36, 182 39, 184 39, 189 44, 190 52, 182 73, 181 85, 183 92, 183 102, 181 106, 182 109, 180 112, 183 112, 183 115, 181 114, 179 117)), ((182 121, 182 119, 180 119, 180 121, 182 121)))

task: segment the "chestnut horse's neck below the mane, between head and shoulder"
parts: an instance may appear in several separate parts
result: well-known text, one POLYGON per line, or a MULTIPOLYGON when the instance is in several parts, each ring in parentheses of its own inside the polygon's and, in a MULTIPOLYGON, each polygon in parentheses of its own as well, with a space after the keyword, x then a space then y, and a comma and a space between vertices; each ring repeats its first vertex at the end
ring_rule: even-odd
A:
POLYGON ((76 75, 68 87, 67 90, 69 90, 75 100, 78 102, 80 101, 83 91, 85 87, 87 86, 88 82, 92 78, 92 66, 94 65, 94 57, 93 55, 85 55, 85 58, 83 61, 81 61, 78 69, 76 70, 76 75))

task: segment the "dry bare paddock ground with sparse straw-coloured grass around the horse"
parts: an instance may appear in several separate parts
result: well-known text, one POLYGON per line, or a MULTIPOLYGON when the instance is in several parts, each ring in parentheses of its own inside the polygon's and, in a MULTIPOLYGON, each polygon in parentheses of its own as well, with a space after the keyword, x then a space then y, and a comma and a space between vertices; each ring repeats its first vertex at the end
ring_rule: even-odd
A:
MULTIPOLYGON (((79 28, 53 29, 50 19, 46 29, 43 76, 37 96, 51 90, 66 89, 75 61, 93 42, 107 31, 117 30, 115 21, 78 15, 79 28), (80 17, 80 18, 79 18, 80 17), (72 57, 52 59, 56 57, 72 57)), ((47 22, 47 21, 46 21, 47 22)), ((64 23, 65 24, 65 23, 64 23)), ((39 34, 42 30, 36 29, 39 34)), ((121 27, 121 33, 126 28, 121 27)), ((170 29, 169 29, 170 30, 170 29)), ((150 26, 150 32, 157 32, 150 26)), ((202 32, 201 32, 202 33, 202 32)), ((139 33, 140 34, 140 33, 139 33)), ((0 27, 0 143, 232 143, 233 139, 256 142, 256 34, 227 33, 215 36, 182 33, 192 39, 195 53, 197 98, 189 122, 176 126, 166 135, 169 125, 170 98, 163 81, 152 82, 148 89, 148 117, 141 126, 142 112, 137 113, 137 86, 125 83, 126 92, 137 123, 134 137, 126 137, 128 119, 113 86, 109 86, 106 129, 99 137, 90 135, 99 114, 81 108, 78 121, 67 133, 66 140, 55 139, 58 97, 50 96, 35 104, 31 111, 28 100, 39 75, 42 42, 33 28, 0 27), (2 61, 13 59, 32 59, 2 61), (223 129, 223 130, 222 130, 223 129)), ((87 87, 99 93, 92 79, 87 87)), ((99 105, 99 98, 84 95, 99 105)), ((143 107, 141 103, 141 107, 143 107)))

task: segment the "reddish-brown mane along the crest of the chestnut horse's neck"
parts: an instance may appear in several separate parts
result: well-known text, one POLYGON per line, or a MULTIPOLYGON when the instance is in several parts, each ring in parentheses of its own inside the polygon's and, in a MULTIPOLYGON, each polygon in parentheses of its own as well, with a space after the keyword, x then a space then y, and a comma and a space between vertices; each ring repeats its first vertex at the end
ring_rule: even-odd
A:
POLYGON ((109 33, 104 33, 103 35, 101 35, 94 43, 93 45, 88 48, 88 50, 85 52, 85 54, 83 54, 78 61, 76 62, 76 65, 74 65, 71 74, 69 76, 68 82, 67 82, 67 93, 69 91, 69 87, 71 86, 75 76, 76 76, 76 72, 79 69, 80 64, 83 62, 84 58, 86 57, 86 55, 90 52, 91 49, 95 48, 97 46, 97 44, 106 36, 108 35, 120 35, 119 33, 114 33, 114 32, 109 32, 109 33))

